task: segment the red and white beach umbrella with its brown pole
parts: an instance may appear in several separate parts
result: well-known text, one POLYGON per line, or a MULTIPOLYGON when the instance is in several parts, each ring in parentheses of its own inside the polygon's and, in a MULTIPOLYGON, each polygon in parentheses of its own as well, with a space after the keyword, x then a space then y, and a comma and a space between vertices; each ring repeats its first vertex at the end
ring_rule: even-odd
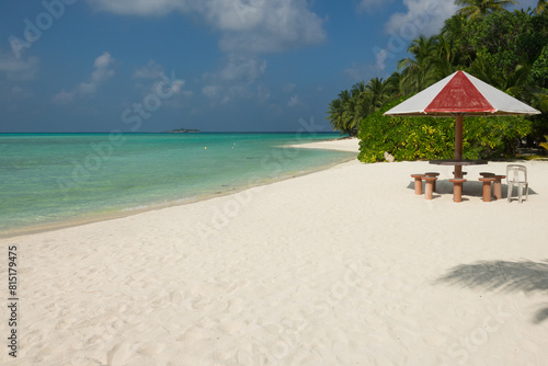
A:
MULTIPOLYGON (((464 116, 494 116, 539 114, 540 112, 510 96, 496 88, 472 77, 465 71, 457 71, 422 92, 398 104, 385 115, 392 116, 456 116, 455 160, 463 159, 463 119, 464 116)), ((460 178, 461 167, 455 168, 455 175, 460 178)))

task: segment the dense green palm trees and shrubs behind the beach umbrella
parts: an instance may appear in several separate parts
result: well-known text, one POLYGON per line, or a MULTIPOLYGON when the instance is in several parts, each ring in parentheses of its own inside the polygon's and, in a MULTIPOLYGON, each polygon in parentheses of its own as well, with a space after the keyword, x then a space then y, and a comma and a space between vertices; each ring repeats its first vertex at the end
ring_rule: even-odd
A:
MULTIPOLYGON (((454 121, 386 117, 383 112, 457 70, 465 70, 541 112, 536 116, 466 118, 468 158, 516 153, 523 144, 540 146, 548 135, 548 12, 506 11, 514 0, 456 0, 463 5, 439 34, 419 36, 388 79, 361 81, 329 104, 331 126, 361 138, 363 161, 447 158, 454 121)), ((546 144, 546 142, 545 142, 546 144)))

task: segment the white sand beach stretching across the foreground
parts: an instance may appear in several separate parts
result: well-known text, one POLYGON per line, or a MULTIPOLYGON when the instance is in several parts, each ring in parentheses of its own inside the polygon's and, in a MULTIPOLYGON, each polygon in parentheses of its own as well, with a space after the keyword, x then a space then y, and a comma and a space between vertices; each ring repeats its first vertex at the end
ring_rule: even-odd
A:
MULTIPOLYGON (((330 146, 356 150, 357 140, 319 147, 330 146)), ((506 162, 465 169, 457 204, 450 167, 354 160, 1 239, 0 364, 546 365, 548 162, 521 163, 523 204, 481 201, 478 173, 504 173, 506 162), (426 171, 441 173, 432 201, 410 176, 426 171)))

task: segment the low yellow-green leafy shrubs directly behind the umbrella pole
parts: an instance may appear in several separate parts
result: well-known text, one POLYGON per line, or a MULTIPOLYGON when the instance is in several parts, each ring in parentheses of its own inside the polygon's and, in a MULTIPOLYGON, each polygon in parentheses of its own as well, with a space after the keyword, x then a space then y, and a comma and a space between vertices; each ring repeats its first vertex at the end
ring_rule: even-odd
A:
MULTIPOLYGON (((361 161, 384 161, 385 151, 396 161, 455 157, 455 117, 383 115, 406 99, 387 103, 362 121, 358 134, 361 161)), ((518 139, 529 131, 530 122, 525 117, 465 117, 463 158, 494 159, 511 155, 518 139)))

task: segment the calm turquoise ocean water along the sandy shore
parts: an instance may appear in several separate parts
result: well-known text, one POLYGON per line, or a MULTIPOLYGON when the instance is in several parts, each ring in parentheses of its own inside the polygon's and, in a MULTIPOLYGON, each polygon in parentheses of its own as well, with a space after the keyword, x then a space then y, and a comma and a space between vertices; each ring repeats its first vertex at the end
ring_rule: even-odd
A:
POLYGON ((283 147, 338 136, 0 135, 0 236, 183 204, 354 158, 283 147))

